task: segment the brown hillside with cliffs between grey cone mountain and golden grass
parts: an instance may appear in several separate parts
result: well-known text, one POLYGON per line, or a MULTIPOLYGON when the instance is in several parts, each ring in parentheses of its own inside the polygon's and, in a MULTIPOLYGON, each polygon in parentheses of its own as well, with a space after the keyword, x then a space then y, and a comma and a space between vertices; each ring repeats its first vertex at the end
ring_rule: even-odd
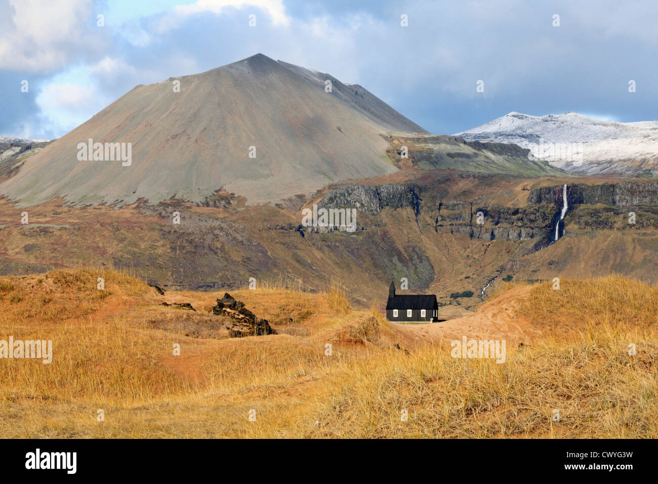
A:
POLYGON ((60 202, 30 207, 24 225, 22 209, 0 201, 0 274, 93 264, 130 268, 167 290, 244 288, 253 277, 321 291, 338 279, 357 308, 384 304, 391 279, 405 277, 410 292, 437 294, 449 315, 475 309, 494 279, 488 294, 503 279, 619 273, 658 282, 658 186, 649 178, 411 168, 274 207, 225 193, 205 205, 60 202), (569 209, 555 242, 564 184, 569 209), (354 207, 357 230, 301 226, 302 209, 314 204, 354 207), (636 224, 628 223, 630 211, 636 224))

